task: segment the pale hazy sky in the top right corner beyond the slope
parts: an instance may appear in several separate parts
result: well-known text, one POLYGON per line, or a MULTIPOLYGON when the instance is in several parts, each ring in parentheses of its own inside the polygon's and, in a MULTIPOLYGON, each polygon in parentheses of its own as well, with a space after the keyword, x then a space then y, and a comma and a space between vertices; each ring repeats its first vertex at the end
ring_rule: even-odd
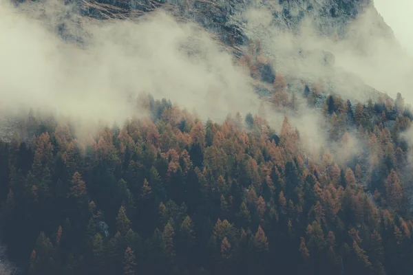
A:
POLYGON ((401 45, 413 54, 413 1, 374 0, 374 5, 385 22, 390 25, 401 45))

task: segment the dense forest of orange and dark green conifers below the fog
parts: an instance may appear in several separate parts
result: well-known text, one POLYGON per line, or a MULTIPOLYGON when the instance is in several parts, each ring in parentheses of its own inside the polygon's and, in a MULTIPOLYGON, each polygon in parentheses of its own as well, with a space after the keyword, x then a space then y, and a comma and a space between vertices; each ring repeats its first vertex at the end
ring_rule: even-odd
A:
MULTIPOLYGON (((293 109, 284 82, 275 78, 274 108, 293 109)), ((313 105, 317 85, 303 96, 313 105)), ((328 96, 322 112, 339 148, 316 153, 288 116, 271 129, 257 114, 218 124, 166 99, 139 104, 147 117, 82 137, 72 122, 30 112, 0 143, 1 241, 21 274, 412 269, 403 133, 413 117, 400 94, 354 107, 328 96), (352 137, 366 146, 340 155, 352 137)))

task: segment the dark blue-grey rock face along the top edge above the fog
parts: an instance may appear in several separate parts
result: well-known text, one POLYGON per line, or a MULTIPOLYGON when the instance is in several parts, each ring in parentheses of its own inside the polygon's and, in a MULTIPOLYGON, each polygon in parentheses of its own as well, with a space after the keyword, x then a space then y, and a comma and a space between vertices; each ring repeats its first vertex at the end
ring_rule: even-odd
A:
MULTIPOLYGON (((310 17, 321 34, 347 33, 347 23, 372 8, 371 0, 74 0, 81 14, 94 19, 127 19, 163 8, 179 19, 195 21, 217 34, 227 45, 245 45, 248 36, 243 30, 240 14, 247 8, 260 7, 273 11, 274 23, 279 28, 297 29, 305 17, 310 17), (275 3, 274 3, 275 2, 275 3)), ((374 9, 374 8, 373 8, 374 9)), ((392 35, 390 28, 377 14, 383 34, 392 35)))

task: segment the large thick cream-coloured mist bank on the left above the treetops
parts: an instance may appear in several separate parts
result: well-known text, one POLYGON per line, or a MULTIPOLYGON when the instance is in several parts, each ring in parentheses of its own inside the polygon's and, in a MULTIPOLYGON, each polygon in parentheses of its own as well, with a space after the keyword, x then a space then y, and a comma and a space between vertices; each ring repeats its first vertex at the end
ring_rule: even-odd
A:
POLYGON ((122 123, 140 110, 140 93, 169 98, 202 118, 255 111, 256 96, 231 55, 191 23, 165 12, 140 21, 82 22, 58 1, 0 5, 0 97, 3 108, 50 109, 83 120, 122 123), (85 47, 62 41, 59 17, 85 47), (188 52, 191 54, 188 54, 188 52), (209 100, 209 94, 215 98, 209 100))

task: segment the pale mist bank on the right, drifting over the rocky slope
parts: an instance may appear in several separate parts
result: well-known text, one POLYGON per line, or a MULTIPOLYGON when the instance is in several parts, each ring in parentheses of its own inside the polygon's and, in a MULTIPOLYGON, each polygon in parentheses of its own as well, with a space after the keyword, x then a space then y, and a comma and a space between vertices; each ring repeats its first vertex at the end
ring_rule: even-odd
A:
MULTIPOLYGON (((290 10, 301 8, 291 5, 290 10)), ((368 87, 392 98, 400 92, 407 102, 413 100, 412 58, 373 5, 348 24, 313 14, 302 20, 295 33, 283 26, 282 20, 273 19, 272 10, 279 10, 279 5, 270 9, 258 5, 243 16, 248 21, 248 36, 262 41, 264 52, 273 58, 277 70, 304 79, 322 78, 328 92, 361 102, 375 99, 368 87), (331 35, 320 34, 320 28, 331 35), (341 37, 335 39, 337 35, 341 37), (297 54, 300 50, 308 55, 302 58, 297 54), (321 62, 321 50, 334 56, 334 64, 321 62)))

